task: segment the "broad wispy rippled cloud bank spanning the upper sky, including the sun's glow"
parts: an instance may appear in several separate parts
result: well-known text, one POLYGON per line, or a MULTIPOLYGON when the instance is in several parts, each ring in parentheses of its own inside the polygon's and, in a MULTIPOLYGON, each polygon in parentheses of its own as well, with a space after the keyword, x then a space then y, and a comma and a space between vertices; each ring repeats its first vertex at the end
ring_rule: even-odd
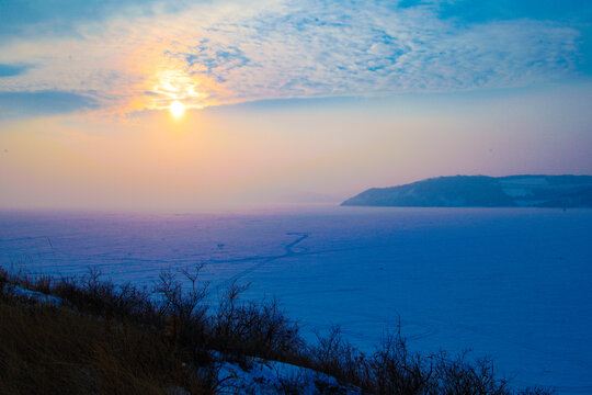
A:
POLYGON ((0 91, 94 92, 106 111, 262 99, 521 87, 574 72, 579 32, 528 19, 459 25, 442 2, 217 1, 0 46, 36 64, 0 91))

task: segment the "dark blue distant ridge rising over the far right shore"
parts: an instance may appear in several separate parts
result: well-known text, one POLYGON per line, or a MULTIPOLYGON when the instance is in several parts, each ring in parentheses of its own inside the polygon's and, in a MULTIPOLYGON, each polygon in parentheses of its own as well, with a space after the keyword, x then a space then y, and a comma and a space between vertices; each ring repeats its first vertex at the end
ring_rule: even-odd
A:
POLYGON ((592 176, 453 176, 372 188, 344 206, 592 207, 592 176))

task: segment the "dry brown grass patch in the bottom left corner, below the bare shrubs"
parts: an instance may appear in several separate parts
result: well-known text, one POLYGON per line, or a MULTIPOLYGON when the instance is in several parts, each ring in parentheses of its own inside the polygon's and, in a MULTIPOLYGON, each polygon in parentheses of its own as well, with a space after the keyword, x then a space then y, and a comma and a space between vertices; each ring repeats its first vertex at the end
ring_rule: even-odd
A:
MULTIPOLYGON (((0 302, 1 394, 164 394, 198 386, 157 332, 69 308, 0 302)), ((197 393, 197 392, 195 392, 197 393)))

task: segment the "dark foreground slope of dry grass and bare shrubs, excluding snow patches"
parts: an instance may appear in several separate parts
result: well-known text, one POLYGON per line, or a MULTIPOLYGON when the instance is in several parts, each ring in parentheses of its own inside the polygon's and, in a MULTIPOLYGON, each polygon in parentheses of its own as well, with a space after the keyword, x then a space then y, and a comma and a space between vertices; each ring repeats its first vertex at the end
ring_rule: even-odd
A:
MULTIPOLYGON (((243 394, 219 379, 221 361, 249 370, 258 357, 331 375, 350 393, 549 394, 511 390, 488 359, 412 352, 400 331, 385 335, 373 354, 356 350, 339 327, 309 346, 275 301, 241 300, 247 286, 232 283, 210 304, 200 269, 164 271, 148 290, 102 280, 95 270, 56 279, 0 268, 0 393, 243 394)), ((277 393, 300 393, 301 380, 309 379, 282 379, 277 393)), ((344 393, 315 384, 319 394, 344 393)))

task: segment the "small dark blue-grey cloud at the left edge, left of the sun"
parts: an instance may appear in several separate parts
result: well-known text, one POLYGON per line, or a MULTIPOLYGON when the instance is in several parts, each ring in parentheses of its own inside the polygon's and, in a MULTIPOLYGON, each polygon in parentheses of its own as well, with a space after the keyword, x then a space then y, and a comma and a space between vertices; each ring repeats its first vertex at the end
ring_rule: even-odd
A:
POLYGON ((2 92, 0 119, 53 115, 91 110, 98 102, 83 94, 62 91, 2 92))

